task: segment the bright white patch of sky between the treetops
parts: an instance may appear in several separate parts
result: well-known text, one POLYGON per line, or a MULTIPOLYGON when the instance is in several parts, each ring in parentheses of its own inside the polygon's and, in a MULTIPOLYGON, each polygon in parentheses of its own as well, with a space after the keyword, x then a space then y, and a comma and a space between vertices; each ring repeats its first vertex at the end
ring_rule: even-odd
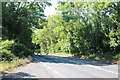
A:
POLYGON ((44 10, 44 13, 46 16, 51 16, 55 14, 56 12, 55 7, 58 5, 57 4, 58 0, 51 0, 49 2, 52 4, 52 6, 47 6, 46 9, 44 10))

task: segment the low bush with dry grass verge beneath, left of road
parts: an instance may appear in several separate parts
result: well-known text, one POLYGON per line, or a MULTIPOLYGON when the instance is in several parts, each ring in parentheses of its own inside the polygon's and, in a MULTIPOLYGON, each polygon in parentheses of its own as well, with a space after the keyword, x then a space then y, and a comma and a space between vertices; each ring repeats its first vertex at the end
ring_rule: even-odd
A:
POLYGON ((8 40, 1 42, 1 44, 1 72, 5 72, 12 68, 27 64, 33 60, 32 51, 23 44, 8 40))

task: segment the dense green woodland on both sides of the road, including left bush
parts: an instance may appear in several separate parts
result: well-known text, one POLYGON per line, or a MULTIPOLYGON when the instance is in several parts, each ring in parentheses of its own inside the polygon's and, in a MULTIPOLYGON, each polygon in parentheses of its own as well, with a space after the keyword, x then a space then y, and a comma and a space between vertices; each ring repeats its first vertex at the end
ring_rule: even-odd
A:
POLYGON ((3 60, 33 55, 36 46, 41 53, 120 59, 120 2, 59 2, 46 17, 50 5, 2 3, 3 60))

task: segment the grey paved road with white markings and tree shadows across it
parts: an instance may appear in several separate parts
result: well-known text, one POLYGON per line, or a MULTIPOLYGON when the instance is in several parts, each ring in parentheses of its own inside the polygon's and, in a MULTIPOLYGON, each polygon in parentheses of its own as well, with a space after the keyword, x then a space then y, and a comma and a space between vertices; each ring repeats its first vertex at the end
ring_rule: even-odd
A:
POLYGON ((118 65, 54 55, 35 55, 35 61, 14 69, 14 78, 118 78, 118 65))

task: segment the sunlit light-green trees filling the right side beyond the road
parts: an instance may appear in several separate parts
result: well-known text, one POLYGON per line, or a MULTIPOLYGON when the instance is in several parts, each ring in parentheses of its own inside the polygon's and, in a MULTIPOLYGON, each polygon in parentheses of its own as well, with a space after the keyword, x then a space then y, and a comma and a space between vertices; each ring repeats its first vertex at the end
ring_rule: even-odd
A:
POLYGON ((120 2, 61 2, 47 25, 34 31, 32 42, 45 53, 114 57, 120 52, 119 7, 120 2))

